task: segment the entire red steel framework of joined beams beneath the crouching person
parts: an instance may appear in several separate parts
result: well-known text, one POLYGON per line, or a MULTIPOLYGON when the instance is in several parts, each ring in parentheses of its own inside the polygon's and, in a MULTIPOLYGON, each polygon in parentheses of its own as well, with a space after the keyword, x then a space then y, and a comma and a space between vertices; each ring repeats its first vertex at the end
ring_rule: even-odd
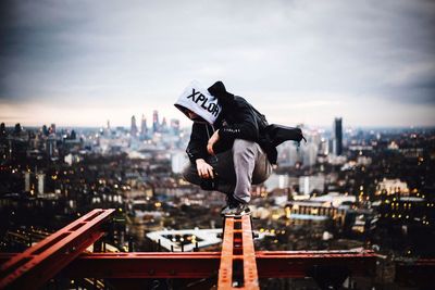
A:
POLYGON ((259 289, 259 278, 313 277, 321 288, 374 276, 372 251, 254 251, 250 216, 226 217, 221 252, 84 253, 113 210, 94 210, 18 254, 0 255, 0 289, 38 289, 51 278, 217 276, 217 289, 259 289))

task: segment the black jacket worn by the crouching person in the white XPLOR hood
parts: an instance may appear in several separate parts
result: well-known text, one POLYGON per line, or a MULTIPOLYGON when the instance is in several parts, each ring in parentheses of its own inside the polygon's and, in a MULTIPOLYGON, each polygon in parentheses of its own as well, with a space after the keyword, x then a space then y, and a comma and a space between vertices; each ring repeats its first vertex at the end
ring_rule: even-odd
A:
POLYGON ((208 90, 217 98, 222 112, 213 126, 194 122, 186 150, 191 162, 197 159, 207 160, 209 156, 207 143, 217 129, 220 140, 213 147, 214 153, 232 149, 235 139, 245 139, 259 143, 268 154, 271 164, 276 164, 276 146, 286 140, 300 141, 303 138, 299 128, 269 125, 265 116, 244 98, 227 92, 222 81, 216 81, 208 90))

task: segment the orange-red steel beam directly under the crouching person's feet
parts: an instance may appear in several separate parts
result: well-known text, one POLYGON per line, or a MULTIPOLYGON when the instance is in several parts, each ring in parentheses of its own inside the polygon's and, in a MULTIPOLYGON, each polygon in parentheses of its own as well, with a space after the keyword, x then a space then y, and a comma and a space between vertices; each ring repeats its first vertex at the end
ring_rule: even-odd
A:
POLYGON ((260 289, 249 215, 225 217, 217 289, 260 289))

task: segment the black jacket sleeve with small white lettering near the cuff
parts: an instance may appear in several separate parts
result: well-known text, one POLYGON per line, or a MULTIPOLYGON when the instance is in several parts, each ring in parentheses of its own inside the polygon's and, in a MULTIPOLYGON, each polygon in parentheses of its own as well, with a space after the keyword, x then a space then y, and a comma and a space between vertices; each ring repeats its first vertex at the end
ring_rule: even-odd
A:
POLYGON ((257 141, 259 127, 250 104, 243 98, 236 97, 235 108, 231 110, 235 114, 237 123, 223 126, 219 129, 219 137, 225 141, 245 139, 257 141))

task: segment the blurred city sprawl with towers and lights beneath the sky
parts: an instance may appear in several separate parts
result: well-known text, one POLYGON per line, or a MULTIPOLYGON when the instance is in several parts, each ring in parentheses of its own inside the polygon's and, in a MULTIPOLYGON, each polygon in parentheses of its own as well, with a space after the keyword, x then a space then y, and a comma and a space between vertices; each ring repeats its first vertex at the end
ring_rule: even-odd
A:
MULTIPOLYGON (((181 175, 189 128, 158 111, 148 119, 101 128, 2 123, 1 252, 21 252, 96 207, 116 209, 107 251, 219 249, 224 196, 181 175)), ((279 146, 273 175, 252 187, 256 248, 372 249, 383 259, 362 288, 422 285, 396 273, 403 261, 435 255, 435 129, 331 123, 299 125, 308 142, 279 146)), ((281 287, 275 280, 260 285, 281 287)))

